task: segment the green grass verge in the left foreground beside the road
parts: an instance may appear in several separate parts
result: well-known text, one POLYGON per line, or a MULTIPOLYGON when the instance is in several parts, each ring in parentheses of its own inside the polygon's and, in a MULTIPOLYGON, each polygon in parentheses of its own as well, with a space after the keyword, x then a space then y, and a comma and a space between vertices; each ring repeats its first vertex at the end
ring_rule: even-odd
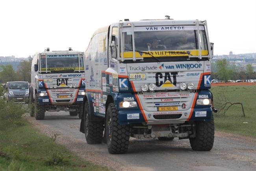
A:
POLYGON ((85 162, 39 133, 26 120, 0 120, 0 171, 91 171, 106 167, 85 162))

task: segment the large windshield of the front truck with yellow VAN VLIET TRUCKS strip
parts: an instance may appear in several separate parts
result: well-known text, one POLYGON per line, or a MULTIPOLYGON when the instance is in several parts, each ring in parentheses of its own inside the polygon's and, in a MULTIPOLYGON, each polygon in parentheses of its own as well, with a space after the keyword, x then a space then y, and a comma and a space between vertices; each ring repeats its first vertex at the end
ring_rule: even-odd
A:
MULTIPOLYGON (((195 26, 135 27, 135 51, 147 51, 156 57, 198 55, 199 45, 202 55, 208 55, 206 33, 200 26, 199 45, 195 26), (161 51, 161 52, 159 52, 161 51)), ((123 29, 124 58, 132 57, 132 32, 123 29)), ((152 57, 136 53, 136 57, 152 57)))

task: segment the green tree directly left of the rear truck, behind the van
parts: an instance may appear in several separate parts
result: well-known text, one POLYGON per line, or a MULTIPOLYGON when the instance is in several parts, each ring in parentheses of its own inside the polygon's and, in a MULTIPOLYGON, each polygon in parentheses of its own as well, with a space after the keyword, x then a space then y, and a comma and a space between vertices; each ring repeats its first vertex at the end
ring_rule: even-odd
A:
POLYGON ((20 81, 31 82, 31 63, 32 57, 30 56, 29 60, 22 60, 18 65, 17 74, 20 81))

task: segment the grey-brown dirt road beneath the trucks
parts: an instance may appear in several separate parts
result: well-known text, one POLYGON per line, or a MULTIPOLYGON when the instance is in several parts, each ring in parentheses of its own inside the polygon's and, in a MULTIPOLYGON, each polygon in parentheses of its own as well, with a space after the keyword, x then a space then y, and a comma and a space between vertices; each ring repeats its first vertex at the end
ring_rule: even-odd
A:
POLYGON ((28 120, 43 133, 58 134, 56 142, 85 160, 113 170, 136 171, 249 171, 256 170, 256 139, 216 132, 211 151, 193 151, 189 140, 174 138, 171 142, 157 139, 130 139, 127 154, 110 155, 106 144, 90 145, 79 132, 80 120, 67 112, 46 112, 45 120, 28 120))

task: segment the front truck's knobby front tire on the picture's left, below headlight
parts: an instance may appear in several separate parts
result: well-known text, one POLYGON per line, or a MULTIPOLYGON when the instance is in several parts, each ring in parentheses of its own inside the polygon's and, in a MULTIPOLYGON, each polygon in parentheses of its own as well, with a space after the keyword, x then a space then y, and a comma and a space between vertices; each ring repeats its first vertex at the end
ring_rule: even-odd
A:
POLYGON ((113 103, 108 105, 105 129, 108 152, 110 154, 127 153, 130 127, 119 124, 118 112, 113 103))

